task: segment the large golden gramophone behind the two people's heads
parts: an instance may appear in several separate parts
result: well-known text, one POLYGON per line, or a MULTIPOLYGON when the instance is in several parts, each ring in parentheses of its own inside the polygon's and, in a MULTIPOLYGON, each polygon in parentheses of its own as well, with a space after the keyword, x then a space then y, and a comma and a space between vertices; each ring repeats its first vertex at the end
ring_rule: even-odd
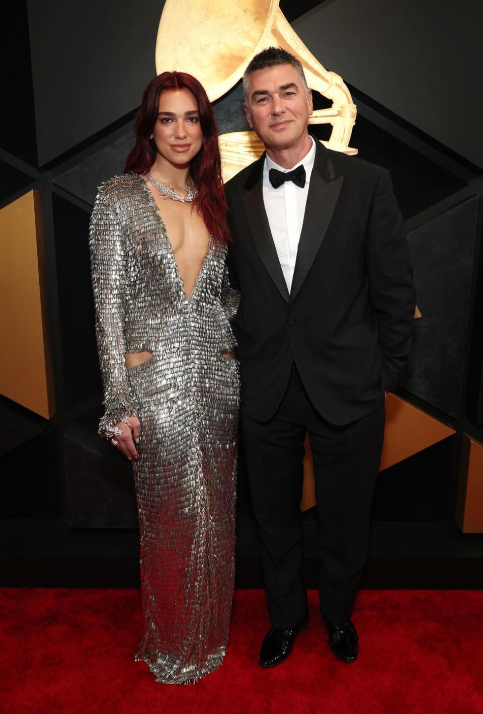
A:
MULTIPOLYGON (((156 41, 156 71, 193 74, 210 101, 231 89, 250 60, 269 46, 291 52, 302 63, 307 84, 332 101, 318 109, 310 124, 331 124, 328 149, 357 154, 349 146, 356 108, 341 77, 327 71, 305 47, 280 11, 279 0, 166 0, 156 41)), ((223 178, 238 174, 258 159, 263 144, 253 131, 220 136, 223 178)))

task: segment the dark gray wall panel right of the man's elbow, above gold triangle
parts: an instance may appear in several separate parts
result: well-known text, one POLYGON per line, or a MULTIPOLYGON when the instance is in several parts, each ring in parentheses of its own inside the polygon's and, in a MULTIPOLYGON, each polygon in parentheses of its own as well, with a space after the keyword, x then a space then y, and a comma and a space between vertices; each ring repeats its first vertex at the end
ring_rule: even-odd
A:
POLYGON ((422 318, 400 385, 454 417, 462 413, 479 201, 473 196, 408 236, 422 318))

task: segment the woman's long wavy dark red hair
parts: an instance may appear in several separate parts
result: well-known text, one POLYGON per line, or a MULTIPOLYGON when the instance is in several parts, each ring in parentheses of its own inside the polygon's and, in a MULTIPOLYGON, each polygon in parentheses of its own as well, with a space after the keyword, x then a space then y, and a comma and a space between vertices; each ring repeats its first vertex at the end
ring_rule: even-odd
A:
POLYGON ((143 101, 136 113, 136 144, 126 159, 124 172, 143 174, 156 161, 157 150, 153 139, 154 125, 158 120, 158 106, 161 92, 165 89, 189 89, 195 97, 200 112, 200 126, 203 131, 203 145, 190 164, 190 176, 198 188, 195 204, 205 221, 205 226, 215 240, 230 241, 230 231, 226 223, 226 198, 221 179, 220 149, 218 147, 218 126, 216 125, 210 100, 198 79, 185 72, 163 72, 146 87, 143 101))

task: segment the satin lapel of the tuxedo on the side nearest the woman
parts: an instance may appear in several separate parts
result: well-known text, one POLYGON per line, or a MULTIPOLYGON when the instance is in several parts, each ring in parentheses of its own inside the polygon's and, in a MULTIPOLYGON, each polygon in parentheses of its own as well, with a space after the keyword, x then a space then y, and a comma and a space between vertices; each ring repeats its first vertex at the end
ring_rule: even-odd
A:
MULTIPOLYGON (((263 166, 263 162, 261 166, 263 166)), ((247 186, 245 186, 244 190, 240 191, 240 194, 253 242, 270 277, 278 287, 285 302, 288 303, 288 287, 283 277, 282 267, 278 260, 277 249, 273 242, 270 224, 268 223, 268 217, 263 203, 261 170, 258 181, 255 181, 254 185, 250 187, 250 190, 247 191, 246 188, 247 186)))

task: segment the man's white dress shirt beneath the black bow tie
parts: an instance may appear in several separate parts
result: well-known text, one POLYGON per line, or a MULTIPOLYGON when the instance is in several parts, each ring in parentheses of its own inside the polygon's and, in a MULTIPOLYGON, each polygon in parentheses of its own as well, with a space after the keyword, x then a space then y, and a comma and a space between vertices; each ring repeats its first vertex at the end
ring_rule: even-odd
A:
POLYGON ((315 141, 310 137, 312 147, 302 161, 292 167, 283 169, 275 164, 275 161, 265 156, 263 165, 263 203, 272 232, 273 242, 277 249, 278 260, 282 266, 285 283, 288 291, 292 287, 293 271, 297 258, 298 241, 302 231, 303 216, 305 213, 305 203, 307 203, 307 193, 309 190, 310 176, 315 161, 315 141), (305 169, 305 186, 295 186, 293 181, 285 181, 279 188, 273 188, 268 180, 268 171, 278 169, 284 174, 293 171, 297 166, 303 164, 305 169))

